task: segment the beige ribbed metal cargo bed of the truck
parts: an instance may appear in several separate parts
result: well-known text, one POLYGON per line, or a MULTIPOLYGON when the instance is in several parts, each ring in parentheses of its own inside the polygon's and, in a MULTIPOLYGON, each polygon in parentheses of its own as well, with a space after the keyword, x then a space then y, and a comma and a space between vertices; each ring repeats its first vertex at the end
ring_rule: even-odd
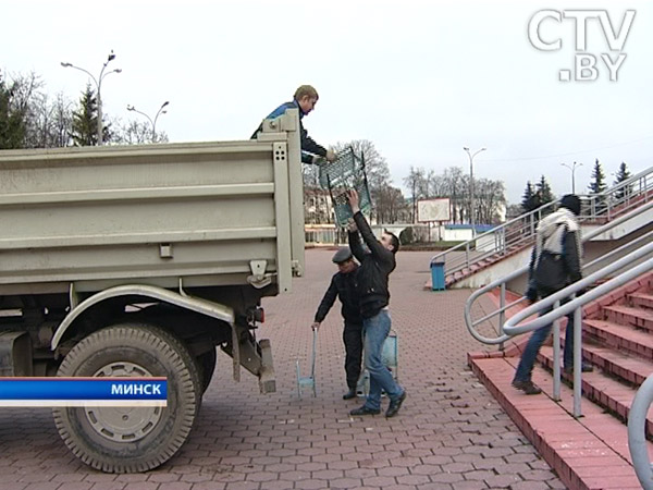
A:
POLYGON ((297 130, 288 111, 252 140, 0 151, 0 295, 289 291, 304 269, 297 130))

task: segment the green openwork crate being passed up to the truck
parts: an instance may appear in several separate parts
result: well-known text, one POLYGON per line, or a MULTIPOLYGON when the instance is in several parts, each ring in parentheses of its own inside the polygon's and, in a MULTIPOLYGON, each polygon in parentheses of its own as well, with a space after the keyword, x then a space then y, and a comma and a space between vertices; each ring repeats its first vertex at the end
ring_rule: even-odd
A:
POLYGON ((345 191, 354 188, 358 192, 359 206, 364 213, 372 207, 365 172, 365 158, 362 155, 356 156, 353 148, 341 151, 335 161, 324 161, 320 164, 320 185, 331 194, 335 223, 338 226, 346 226, 352 218, 352 208, 345 191))

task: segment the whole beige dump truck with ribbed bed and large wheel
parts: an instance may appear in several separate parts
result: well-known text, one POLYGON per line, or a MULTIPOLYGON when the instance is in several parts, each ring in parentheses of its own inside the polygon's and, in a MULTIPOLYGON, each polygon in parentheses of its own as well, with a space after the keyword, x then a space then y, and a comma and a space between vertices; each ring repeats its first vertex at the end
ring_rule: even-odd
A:
POLYGON ((300 167, 296 110, 250 140, 0 151, 0 377, 168 380, 165 407, 53 407, 83 462, 172 457, 219 353, 275 390, 261 298, 303 274, 300 167))

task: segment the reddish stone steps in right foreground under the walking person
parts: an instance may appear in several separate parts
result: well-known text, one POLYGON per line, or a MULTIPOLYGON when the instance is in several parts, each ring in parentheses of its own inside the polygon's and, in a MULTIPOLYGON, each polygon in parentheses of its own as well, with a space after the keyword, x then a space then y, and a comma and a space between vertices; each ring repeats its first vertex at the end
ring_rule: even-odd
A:
MULTIPOLYGON (((582 373, 581 418, 571 415, 570 376, 563 375, 562 402, 552 400, 551 346, 541 350, 533 372, 544 393, 528 396, 510 387, 527 339, 518 338, 504 352, 470 353, 469 365, 568 488, 641 488, 625 422, 637 388, 653 373, 653 272, 584 308, 582 355, 594 372, 582 373)), ((646 432, 653 438, 653 414, 646 432)))

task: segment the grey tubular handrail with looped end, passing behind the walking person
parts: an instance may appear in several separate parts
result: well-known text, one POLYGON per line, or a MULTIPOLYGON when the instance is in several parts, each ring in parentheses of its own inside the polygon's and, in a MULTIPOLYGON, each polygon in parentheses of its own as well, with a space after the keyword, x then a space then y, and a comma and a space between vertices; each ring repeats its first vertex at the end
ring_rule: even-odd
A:
MULTIPOLYGON (((607 231, 609 231, 611 229, 620 225, 623 222, 628 221, 630 219, 632 219, 634 216, 638 216, 641 212, 648 211, 650 208, 653 207, 653 201, 645 204, 644 206, 641 206, 639 208, 632 209, 631 211, 629 211, 628 213, 620 216, 619 218, 616 218, 612 221, 608 221, 607 223, 605 223, 602 226, 599 226, 596 230, 593 230, 587 234, 584 234, 582 236, 582 242, 587 242, 591 238, 593 238, 594 236, 601 235, 607 231)), ((607 254, 594 259, 593 261, 583 266, 583 269, 590 268, 595 266, 596 264, 607 260, 607 259, 612 259, 612 257, 614 257, 615 255, 619 254, 620 252, 623 252, 624 249, 632 246, 636 243, 639 242, 643 242, 645 241, 649 236, 650 236, 651 232, 631 241, 628 244, 621 245, 618 248, 615 248, 614 250, 608 252, 607 254)), ((490 284, 486 284, 478 290, 476 290, 473 293, 471 293, 471 295, 467 298, 467 302, 465 303, 465 311, 464 311, 464 316, 465 316, 465 324, 467 327, 467 330, 469 331, 469 333, 479 342, 482 342, 484 344, 490 344, 490 345, 497 345, 497 344, 502 344, 503 342, 505 342, 507 339, 500 336, 496 339, 490 339, 486 336, 481 335, 479 332, 476 331, 475 327, 485 320, 488 320, 489 318, 492 318, 492 316, 496 316, 496 315, 501 315, 504 311, 506 311, 508 308, 512 308, 513 306, 523 302, 526 298, 521 297, 513 303, 509 303, 505 306, 503 306, 502 308, 500 308, 498 310, 496 310, 493 315, 490 316, 485 316, 482 319, 479 319, 477 321, 475 321, 471 318, 471 308, 473 303, 482 295, 489 293, 490 291, 494 290, 495 287, 502 286, 502 284, 505 284, 514 279, 517 279, 519 277, 521 277, 522 274, 528 272, 528 268, 529 266, 522 266, 519 269, 514 270, 513 272, 508 273, 507 275, 500 278, 493 282, 491 282, 490 284)), ((504 297, 502 296, 502 302, 504 301, 504 297)), ((501 328, 503 329, 503 326, 501 326, 501 328)), ((501 330, 501 332, 503 332, 503 330, 501 330)), ((501 333, 500 332, 500 333, 501 333)))

